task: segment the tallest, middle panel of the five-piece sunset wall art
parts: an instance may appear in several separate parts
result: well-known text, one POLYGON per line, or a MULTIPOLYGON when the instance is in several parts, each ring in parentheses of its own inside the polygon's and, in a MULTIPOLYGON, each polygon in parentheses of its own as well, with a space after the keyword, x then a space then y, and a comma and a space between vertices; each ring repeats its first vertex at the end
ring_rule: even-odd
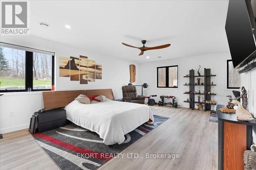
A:
POLYGON ((80 56, 79 64, 80 84, 88 84, 88 57, 80 56))

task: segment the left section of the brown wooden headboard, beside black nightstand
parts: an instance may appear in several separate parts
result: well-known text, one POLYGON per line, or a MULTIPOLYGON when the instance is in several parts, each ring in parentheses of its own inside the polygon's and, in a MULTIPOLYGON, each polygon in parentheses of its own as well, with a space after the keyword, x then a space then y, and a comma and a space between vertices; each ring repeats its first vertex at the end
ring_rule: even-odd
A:
POLYGON ((65 107, 80 94, 86 94, 86 90, 70 91, 43 91, 45 109, 56 109, 65 107))

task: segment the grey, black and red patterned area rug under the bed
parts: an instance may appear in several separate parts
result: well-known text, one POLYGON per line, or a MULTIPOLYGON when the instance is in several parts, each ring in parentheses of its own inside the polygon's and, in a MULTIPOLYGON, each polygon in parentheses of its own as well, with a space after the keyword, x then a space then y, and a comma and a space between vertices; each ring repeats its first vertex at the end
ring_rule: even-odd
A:
POLYGON ((126 134, 122 144, 105 145, 97 133, 73 123, 33 136, 60 169, 96 169, 161 125, 168 117, 154 115, 154 119, 154 125, 145 123, 126 134))

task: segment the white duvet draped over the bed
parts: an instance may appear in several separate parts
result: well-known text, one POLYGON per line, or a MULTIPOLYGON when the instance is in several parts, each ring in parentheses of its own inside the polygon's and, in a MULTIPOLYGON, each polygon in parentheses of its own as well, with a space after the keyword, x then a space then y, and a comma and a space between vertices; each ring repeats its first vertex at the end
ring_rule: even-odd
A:
POLYGON ((96 132, 107 145, 121 144, 124 135, 154 117, 147 105, 118 102, 82 104, 74 100, 65 107, 67 119, 74 124, 96 132))

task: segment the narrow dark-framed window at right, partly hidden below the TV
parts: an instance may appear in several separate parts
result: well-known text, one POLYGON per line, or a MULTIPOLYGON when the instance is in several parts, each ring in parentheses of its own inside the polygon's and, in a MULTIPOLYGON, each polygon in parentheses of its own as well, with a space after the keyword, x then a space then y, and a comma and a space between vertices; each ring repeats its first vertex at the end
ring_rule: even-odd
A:
POLYGON ((227 60, 227 88, 239 89, 241 84, 240 74, 234 69, 232 60, 227 60))

